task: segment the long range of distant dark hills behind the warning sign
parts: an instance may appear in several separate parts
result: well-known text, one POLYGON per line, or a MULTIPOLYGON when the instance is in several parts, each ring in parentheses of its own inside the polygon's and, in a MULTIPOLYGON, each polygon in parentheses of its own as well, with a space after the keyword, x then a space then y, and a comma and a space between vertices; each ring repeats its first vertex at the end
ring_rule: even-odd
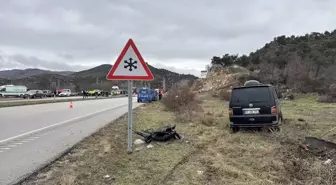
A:
MULTIPOLYGON (((182 75, 166 69, 157 69, 148 65, 152 71, 155 80, 148 82, 135 81, 135 86, 162 87, 163 78, 166 78, 166 87, 169 88, 173 83, 180 80, 193 80, 197 77, 193 75, 182 75), (149 84, 150 83, 150 84, 149 84)), ((7 74, 4 77, 0 76, 0 85, 2 84, 17 84, 26 85, 31 89, 55 89, 55 88, 70 88, 73 91, 80 91, 81 89, 104 89, 110 90, 113 85, 119 85, 121 88, 126 88, 125 81, 108 81, 106 74, 111 69, 112 65, 103 64, 88 70, 71 73, 70 72, 53 72, 44 71, 40 69, 26 69, 26 70, 10 70, 12 73, 8 75, 8 71, 0 71, 0 74, 7 74), (19 73, 18 71, 21 71, 19 73), (32 71, 35 71, 32 72, 32 71), (20 78, 13 78, 14 72, 21 74, 20 78), (23 75, 24 74, 24 75, 23 75)), ((14 75, 16 76, 16 75, 14 75)), ((18 75, 20 76, 20 75, 18 75)))

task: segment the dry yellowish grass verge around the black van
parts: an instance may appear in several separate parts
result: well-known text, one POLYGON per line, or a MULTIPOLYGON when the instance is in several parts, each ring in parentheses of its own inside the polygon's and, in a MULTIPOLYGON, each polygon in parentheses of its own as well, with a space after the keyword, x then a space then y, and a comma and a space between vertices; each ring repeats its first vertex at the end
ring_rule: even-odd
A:
MULTIPOLYGON (((185 136, 182 141, 153 143, 153 148, 128 155, 123 117, 23 184, 335 184, 336 159, 324 165, 325 158, 300 150, 298 144, 304 136, 318 137, 334 126, 336 105, 317 103, 316 97, 284 101, 286 120, 279 133, 230 134, 227 102, 206 94, 199 98, 202 113, 192 122, 177 122, 161 103, 134 112, 136 129, 176 123, 185 136)), ((335 142, 336 135, 324 139, 335 142)))

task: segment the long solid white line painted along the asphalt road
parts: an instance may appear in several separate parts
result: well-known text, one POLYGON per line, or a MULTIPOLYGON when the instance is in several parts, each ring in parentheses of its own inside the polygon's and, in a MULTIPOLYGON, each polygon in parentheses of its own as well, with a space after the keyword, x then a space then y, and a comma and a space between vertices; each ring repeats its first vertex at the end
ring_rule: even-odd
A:
MULTIPOLYGON (((23 133, 23 134, 20 134, 20 135, 16 135, 16 136, 13 136, 13 137, 1 140, 0 143, 4 143, 4 142, 7 142, 7 141, 10 141, 10 140, 13 140, 13 139, 17 139, 17 138, 20 138, 20 137, 23 137, 23 136, 27 136, 27 135, 30 135, 30 134, 34 134, 34 133, 40 132, 40 131, 48 129, 48 128, 52 128, 52 127, 55 127, 55 126, 63 125, 65 123, 69 123, 69 122, 75 121, 77 119, 89 117, 91 115, 95 115, 95 114, 98 114, 98 113, 101 113, 101 112, 104 112, 104 111, 107 111, 107 110, 115 109, 115 108, 118 108, 118 107, 123 107, 125 105, 128 105, 128 104, 123 104, 123 105, 118 105, 118 106, 110 107, 110 108, 103 109, 103 110, 100 110, 100 111, 96 111, 96 112, 93 112, 93 113, 90 113, 90 114, 87 114, 87 115, 84 115, 84 116, 78 116, 78 117, 75 117, 75 118, 72 118, 72 119, 69 119, 69 120, 66 120, 66 121, 62 121, 62 122, 55 123, 55 124, 52 124, 52 125, 49 125, 49 126, 46 126, 46 127, 43 127, 43 128, 32 130, 32 131, 29 131, 29 132, 26 132, 26 133, 23 133)), ((24 142, 24 141, 22 141, 22 142, 24 142)))

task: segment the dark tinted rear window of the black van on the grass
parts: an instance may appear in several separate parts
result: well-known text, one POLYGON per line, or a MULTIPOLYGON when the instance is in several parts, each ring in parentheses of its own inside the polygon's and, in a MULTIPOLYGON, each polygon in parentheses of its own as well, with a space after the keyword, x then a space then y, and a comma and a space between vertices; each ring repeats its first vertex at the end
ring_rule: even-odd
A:
POLYGON ((232 90, 231 102, 233 103, 259 103, 269 101, 271 101, 271 96, 268 87, 253 87, 232 90))

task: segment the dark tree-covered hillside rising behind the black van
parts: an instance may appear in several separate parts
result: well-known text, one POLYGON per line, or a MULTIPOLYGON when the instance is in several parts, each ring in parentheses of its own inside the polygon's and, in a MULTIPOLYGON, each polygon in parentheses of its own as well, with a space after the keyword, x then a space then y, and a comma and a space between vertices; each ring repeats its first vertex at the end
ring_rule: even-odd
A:
POLYGON ((326 93, 336 82, 336 30, 279 36, 249 55, 214 56, 211 71, 233 64, 257 72, 264 83, 303 93, 326 93))

